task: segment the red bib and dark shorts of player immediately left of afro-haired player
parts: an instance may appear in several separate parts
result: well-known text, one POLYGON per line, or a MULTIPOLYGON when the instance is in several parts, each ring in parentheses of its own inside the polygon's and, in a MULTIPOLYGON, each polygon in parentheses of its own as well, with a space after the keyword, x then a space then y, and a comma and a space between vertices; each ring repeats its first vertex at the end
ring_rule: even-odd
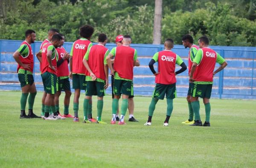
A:
MULTIPOLYGON (((63 46, 56 48, 60 59, 64 57, 66 50, 63 46)), ((65 59, 63 63, 57 67, 57 77, 58 77, 58 90, 70 90, 70 81, 69 81, 69 69, 68 69, 68 60, 65 59)))

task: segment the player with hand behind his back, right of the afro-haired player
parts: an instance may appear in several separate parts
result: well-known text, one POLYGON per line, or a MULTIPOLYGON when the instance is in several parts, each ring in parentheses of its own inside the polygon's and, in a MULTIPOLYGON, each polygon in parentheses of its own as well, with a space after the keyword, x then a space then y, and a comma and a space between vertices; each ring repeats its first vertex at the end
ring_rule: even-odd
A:
POLYGON ((84 123, 90 123, 86 120, 88 113, 89 101, 93 95, 98 96, 97 102, 97 123, 107 124, 101 119, 103 109, 103 96, 105 96, 105 89, 108 88, 108 64, 106 57, 109 50, 105 47, 107 43, 107 36, 105 34, 99 34, 99 43, 87 49, 84 55, 84 67, 86 71, 86 93, 84 98, 84 123))

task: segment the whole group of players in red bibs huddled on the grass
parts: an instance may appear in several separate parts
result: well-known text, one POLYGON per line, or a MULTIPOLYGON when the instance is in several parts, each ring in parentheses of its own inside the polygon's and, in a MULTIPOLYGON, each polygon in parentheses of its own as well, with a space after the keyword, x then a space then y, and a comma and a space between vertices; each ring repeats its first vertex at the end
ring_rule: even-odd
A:
MULTIPOLYGON (((131 37, 129 35, 119 35, 116 37, 116 47, 109 50, 105 47, 107 35, 99 34, 98 44, 90 42, 94 28, 90 25, 82 26, 79 29, 80 39, 73 43, 70 53, 63 47, 64 35, 57 29, 49 29, 48 37, 43 41, 40 51, 36 54, 40 62, 41 77, 44 84, 44 94, 42 97, 41 117, 33 113, 33 104, 36 96, 36 87, 33 79, 33 52, 31 43, 34 43, 36 34, 34 30, 25 32, 26 39, 21 43, 20 48, 13 54, 18 64, 17 73, 20 81, 22 95, 20 98, 20 118, 43 118, 45 120, 56 120, 73 118, 74 122, 79 122, 79 97, 81 90, 85 90, 83 102, 84 123, 106 124, 102 120, 103 97, 108 88, 108 73, 110 69, 112 87, 112 119, 111 124, 125 125, 125 114, 129 110, 130 122, 138 122, 134 118, 134 90, 133 90, 133 68, 140 66, 137 59, 136 49, 130 47, 131 37), (68 68, 70 64, 70 70, 68 68), (73 80, 74 116, 69 114, 70 104, 70 81, 73 80), (59 96, 61 91, 65 92, 64 114, 59 110, 59 96), (98 98, 97 118, 92 116, 92 96, 98 98), (122 95, 121 114, 119 116, 119 98, 122 95), (26 101, 29 96, 29 113, 26 115, 26 101)), ((224 69, 227 62, 217 52, 208 48, 209 40, 203 36, 198 39, 199 47, 193 44, 191 35, 182 38, 185 48, 189 47, 189 90, 188 106, 189 119, 183 124, 192 126, 210 126, 210 103, 209 98, 212 91, 213 75, 224 69), (214 71, 215 63, 221 66, 214 71), (213 72, 214 71, 214 72, 213 72), (199 115, 198 97, 203 98, 205 105, 206 119, 204 124, 199 115), (195 118, 194 118, 195 116, 195 118)), ((144 125, 151 125, 155 106, 159 99, 166 95, 167 112, 164 126, 169 125, 169 118, 173 110, 173 99, 176 97, 176 75, 184 72, 187 67, 179 55, 171 51, 174 41, 170 38, 164 43, 164 50, 154 54, 149 62, 149 68, 155 75, 155 89, 153 98, 148 108, 148 121, 144 125), (154 64, 158 62, 157 72, 154 64), (175 65, 181 69, 175 72, 175 65)))

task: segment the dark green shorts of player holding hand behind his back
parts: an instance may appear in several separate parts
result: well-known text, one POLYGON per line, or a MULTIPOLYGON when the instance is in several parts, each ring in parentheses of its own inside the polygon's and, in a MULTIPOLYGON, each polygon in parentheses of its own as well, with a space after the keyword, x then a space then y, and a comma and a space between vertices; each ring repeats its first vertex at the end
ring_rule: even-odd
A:
POLYGON ((86 91, 85 95, 86 96, 105 96, 106 91, 105 91, 105 82, 98 82, 98 81, 86 81, 86 91))

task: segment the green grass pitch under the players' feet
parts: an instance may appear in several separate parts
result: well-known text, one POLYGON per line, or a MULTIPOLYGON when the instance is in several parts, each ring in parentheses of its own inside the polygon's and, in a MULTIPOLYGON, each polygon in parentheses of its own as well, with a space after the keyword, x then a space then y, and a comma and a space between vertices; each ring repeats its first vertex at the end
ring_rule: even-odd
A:
MULTIPOLYGON (((256 101, 212 99, 211 127, 190 127, 181 124, 188 117, 186 99, 176 98, 169 127, 163 127, 166 100, 158 101, 151 126, 143 125, 151 98, 140 96, 134 98, 134 116, 140 122, 100 125, 73 123, 72 119, 19 119, 20 94, 0 91, 0 167, 256 166, 256 101)), ((37 115, 41 113, 41 96, 38 92, 35 100, 37 115)), ((204 122, 204 105, 200 101, 204 122)), ((111 96, 106 96, 102 119, 108 123, 111 102, 111 96)), ((71 114, 72 109, 73 103, 71 114)), ((96 117, 96 97, 93 116, 96 117)))

